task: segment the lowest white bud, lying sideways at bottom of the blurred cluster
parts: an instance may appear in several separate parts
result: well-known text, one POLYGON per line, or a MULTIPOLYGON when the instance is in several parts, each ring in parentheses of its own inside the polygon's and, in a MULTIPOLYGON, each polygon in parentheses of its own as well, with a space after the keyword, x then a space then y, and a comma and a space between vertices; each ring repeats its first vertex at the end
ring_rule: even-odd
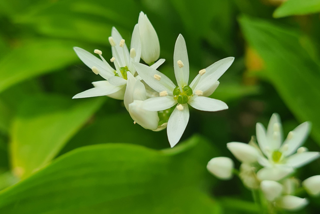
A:
POLYGON ((289 211, 296 211, 302 209, 308 204, 306 198, 299 198, 293 195, 285 195, 276 201, 276 206, 289 211))

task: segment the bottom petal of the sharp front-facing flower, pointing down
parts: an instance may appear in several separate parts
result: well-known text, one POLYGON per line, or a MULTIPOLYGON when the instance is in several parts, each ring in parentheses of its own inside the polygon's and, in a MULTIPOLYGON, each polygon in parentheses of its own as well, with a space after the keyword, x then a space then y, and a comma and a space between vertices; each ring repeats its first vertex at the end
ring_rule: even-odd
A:
POLYGON ((182 104, 182 106, 182 111, 174 108, 168 121, 167 135, 171 148, 179 142, 189 122, 190 114, 188 104, 182 104))

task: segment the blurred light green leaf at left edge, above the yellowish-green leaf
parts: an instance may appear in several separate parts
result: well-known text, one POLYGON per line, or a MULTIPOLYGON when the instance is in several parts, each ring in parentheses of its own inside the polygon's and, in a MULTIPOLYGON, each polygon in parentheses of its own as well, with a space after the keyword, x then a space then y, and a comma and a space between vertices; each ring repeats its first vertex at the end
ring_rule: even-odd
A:
POLYGON ((74 43, 63 40, 32 40, 0 59, 0 92, 10 86, 72 64, 74 43))

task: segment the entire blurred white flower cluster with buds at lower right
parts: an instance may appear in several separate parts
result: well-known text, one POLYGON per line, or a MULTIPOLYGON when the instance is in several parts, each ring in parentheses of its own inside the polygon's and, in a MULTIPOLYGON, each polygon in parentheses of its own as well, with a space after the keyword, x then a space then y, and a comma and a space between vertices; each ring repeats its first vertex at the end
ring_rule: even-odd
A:
POLYGON ((308 200, 295 196, 299 191, 305 190, 311 196, 320 195, 320 175, 302 183, 294 177, 297 168, 320 156, 319 152, 308 152, 307 148, 301 147, 310 126, 309 122, 298 125, 283 140, 280 117, 273 114, 267 129, 256 123, 256 139, 252 137, 249 144, 227 143, 228 150, 241 162, 239 171, 234 169, 234 163, 228 157, 212 158, 207 169, 222 180, 237 174, 246 187, 260 192, 274 209, 301 209, 308 200))

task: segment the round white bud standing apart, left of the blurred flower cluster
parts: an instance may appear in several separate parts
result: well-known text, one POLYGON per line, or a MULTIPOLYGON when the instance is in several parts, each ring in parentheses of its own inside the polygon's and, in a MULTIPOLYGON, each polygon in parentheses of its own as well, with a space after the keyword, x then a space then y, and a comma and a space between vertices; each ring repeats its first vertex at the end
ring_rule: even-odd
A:
POLYGON ((229 180, 233 176, 233 166, 233 161, 228 157, 214 157, 208 162, 207 169, 217 178, 229 180))

